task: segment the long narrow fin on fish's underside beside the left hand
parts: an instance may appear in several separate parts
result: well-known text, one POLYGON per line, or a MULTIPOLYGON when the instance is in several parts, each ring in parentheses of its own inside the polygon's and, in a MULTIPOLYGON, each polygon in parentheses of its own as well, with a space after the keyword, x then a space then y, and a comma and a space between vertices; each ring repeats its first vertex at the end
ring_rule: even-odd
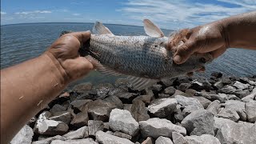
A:
POLYGON ((114 70, 111 70, 107 66, 103 66, 101 62, 98 62, 97 59, 93 58, 90 55, 87 55, 86 59, 88 59, 88 61, 90 61, 96 67, 96 70, 98 70, 102 74, 109 74, 109 75, 114 75, 114 76, 123 76, 123 74, 120 74, 120 73, 118 73, 114 70))

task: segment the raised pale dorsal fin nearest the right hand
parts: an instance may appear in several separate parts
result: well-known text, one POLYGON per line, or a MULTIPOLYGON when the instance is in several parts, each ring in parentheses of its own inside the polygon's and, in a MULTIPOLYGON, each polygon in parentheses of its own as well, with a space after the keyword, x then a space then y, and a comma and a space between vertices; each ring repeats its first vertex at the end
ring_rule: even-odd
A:
POLYGON ((162 30, 159 29, 158 26, 154 25, 149 19, 144 19, 144 30, 147 35, 155 38, 162 38, 165 34, 162 33, 162 30))

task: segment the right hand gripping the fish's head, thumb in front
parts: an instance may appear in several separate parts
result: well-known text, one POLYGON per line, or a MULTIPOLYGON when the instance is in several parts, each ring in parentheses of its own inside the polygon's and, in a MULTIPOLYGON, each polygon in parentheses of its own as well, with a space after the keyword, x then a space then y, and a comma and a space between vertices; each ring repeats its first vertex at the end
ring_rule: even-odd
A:
POLYGON ((186 62, 190 55, 194 53, 210 52, 213 58, 218 58, 226 51, 226 38, 220 22, 197 26, 190 30, 182 30, 182 33, 184 31, 187 31, 186 38, 183 38, 184 44, 177 47, 167 45, 170 50, 174 51, 173 59, 177 64, 186 62))

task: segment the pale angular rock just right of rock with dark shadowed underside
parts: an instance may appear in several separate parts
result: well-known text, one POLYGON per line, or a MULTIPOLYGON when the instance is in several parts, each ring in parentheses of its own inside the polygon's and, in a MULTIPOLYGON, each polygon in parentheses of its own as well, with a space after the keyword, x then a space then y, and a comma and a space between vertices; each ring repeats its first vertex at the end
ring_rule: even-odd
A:
POLYGON ((184 117, 186 117, 186 115, 190 114, 194 110, 203 109, 202 104, 196 98, 186 98, 182 95, 176 95, 174 98, 178 101, 178 104, 184 108, 182 110, 184 117))

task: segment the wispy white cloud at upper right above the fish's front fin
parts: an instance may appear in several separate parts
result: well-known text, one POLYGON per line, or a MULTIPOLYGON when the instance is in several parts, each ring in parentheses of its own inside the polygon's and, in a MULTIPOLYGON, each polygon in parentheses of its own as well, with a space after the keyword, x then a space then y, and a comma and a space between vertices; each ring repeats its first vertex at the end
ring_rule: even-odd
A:
POLYGON ((207 1, 205 3, 190 2, 189 0, 129 0, 118 11, 122 11, 124 15, 137 22, 142 22, 144 18, 150 18, 161 27, 181 29, 256 9, 255 0, 217 1, 233 4, 234 7, 207 1))

